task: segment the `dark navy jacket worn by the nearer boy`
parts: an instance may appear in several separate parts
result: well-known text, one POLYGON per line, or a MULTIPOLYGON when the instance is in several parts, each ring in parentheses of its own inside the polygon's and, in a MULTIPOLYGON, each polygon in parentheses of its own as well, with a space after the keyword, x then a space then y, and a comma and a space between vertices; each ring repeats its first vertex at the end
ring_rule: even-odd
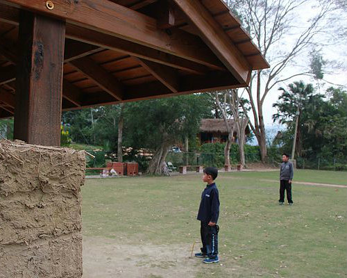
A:
POLYGON ((219 217, 219 193, 216 183, 206 186, 201 194, 198 220, 217 223, 219 217))

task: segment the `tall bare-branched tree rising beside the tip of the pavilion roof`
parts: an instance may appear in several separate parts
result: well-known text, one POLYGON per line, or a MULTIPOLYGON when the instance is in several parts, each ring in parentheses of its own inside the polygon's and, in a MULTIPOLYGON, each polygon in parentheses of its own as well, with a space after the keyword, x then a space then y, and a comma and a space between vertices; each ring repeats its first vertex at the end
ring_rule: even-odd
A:
POLYGON ((302 72, 294 73, 287 71, 287 68, 296 65, 299 57, 302 63, 303 55, 307 56, 307 51, 312 44, 322 45, 328 41, 328 38, 332 38, 337 24, 328 25, 328 23, 331 21, 331 15, 340 7, 332 1, 319 1, 319 5, 312 9, 312 17, 302 24, 296 24, 300 20, 298 18, 300 10, 312 4, 312 1, 224 1, 232 10, 235 10, 253 42, 271 65, 269 70, 253 72, 250 85, 245 89, 252 106, 253 122, 250 126, 260 146, 262 161, 265 162, 267 149, 264 101, 279 83, 292 79, 294 76, 312 74, 308 67, 302 72), (317 40, 322 33, 325 34, 325 42, 317 40))

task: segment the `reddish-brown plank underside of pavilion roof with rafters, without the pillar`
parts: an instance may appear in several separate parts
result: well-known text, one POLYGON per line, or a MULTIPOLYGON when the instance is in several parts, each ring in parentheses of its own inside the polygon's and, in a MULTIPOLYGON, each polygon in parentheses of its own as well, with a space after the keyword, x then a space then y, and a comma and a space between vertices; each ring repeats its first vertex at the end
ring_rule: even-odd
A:
MULTIPOLYGON (((203 17, 208 16, 208 26, 199 24, 198 13, 194 7, 185 7, 185 1, 94 1, 113 10, 110 20, 115 18, 115 26, 117 16, 125 16, 135 25, 145 21, 144 32, 147 26, 155 31, 153 42, 151 35, 142 38, 142 33, 134 33, 130 38, 126 33, 101 31, 100 26, 91 28, 73 18, 62 18, 67 22, 62 110, 244 87, 251 70, 269 67, 221 0, 192 1, 201 13, 207 13, 203 17), (209 33, 211 30, 220 32, 209 33), (155 35, 160 41, 154 40, 155 35), (246 67, 243 80, 245 75, 237 75, 237 67, 230 67, 229 54, 219 48, 226 40, 224 46, 232 48, 235 63, 246 67)), ((31 1, 0 0, 0 117, 14 115, 19 11, 47 15, 26 2, 31 1)), ((64 1, 54 2, 58 6, 57 2, 64 1)), ((88 2, 92 1, 83 5, 88 2)), ((58 13, 54 16, 60 17, 58 13)), ((125 28, 119 30, 126 32, 125 28)))

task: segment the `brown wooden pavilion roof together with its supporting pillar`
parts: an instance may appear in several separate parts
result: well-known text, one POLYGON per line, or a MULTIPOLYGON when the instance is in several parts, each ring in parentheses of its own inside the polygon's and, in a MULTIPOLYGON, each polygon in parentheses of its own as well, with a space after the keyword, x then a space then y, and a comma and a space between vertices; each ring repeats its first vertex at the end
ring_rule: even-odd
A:
POLYGON ((269 67, 222 0, 0 0, 0 117, 60 145, 62 111, 248 85, 269 67))

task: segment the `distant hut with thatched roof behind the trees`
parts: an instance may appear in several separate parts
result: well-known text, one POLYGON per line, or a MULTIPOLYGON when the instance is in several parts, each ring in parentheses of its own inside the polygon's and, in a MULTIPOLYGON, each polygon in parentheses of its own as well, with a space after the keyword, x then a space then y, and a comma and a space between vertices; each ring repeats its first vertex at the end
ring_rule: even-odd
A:
MULTIPOLYGON (((234 126, 232 142, 237 142, 237 131, 234 120, 228 120, 234 126)), ((250 129, 246 127, 246 136, 250 133, 250 129)), ((203 119, 200 124, 200 133, 198 135, 201 144, 226 142, 228 140, 228 131, 223 119, 203 119)))

